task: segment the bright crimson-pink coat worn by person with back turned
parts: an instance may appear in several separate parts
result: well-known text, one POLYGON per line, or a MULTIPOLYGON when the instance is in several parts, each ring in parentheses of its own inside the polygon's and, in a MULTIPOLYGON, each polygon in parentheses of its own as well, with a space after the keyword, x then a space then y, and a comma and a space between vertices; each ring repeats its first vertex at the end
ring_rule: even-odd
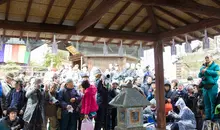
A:
POLYGON ((82 99, 82 114, 88 115, 90 112, 96 112, 98 110, 95 97, 96 92, 97 88, 94 85, 90 85, 90 87, 85 90, 85 94, 82 99))

